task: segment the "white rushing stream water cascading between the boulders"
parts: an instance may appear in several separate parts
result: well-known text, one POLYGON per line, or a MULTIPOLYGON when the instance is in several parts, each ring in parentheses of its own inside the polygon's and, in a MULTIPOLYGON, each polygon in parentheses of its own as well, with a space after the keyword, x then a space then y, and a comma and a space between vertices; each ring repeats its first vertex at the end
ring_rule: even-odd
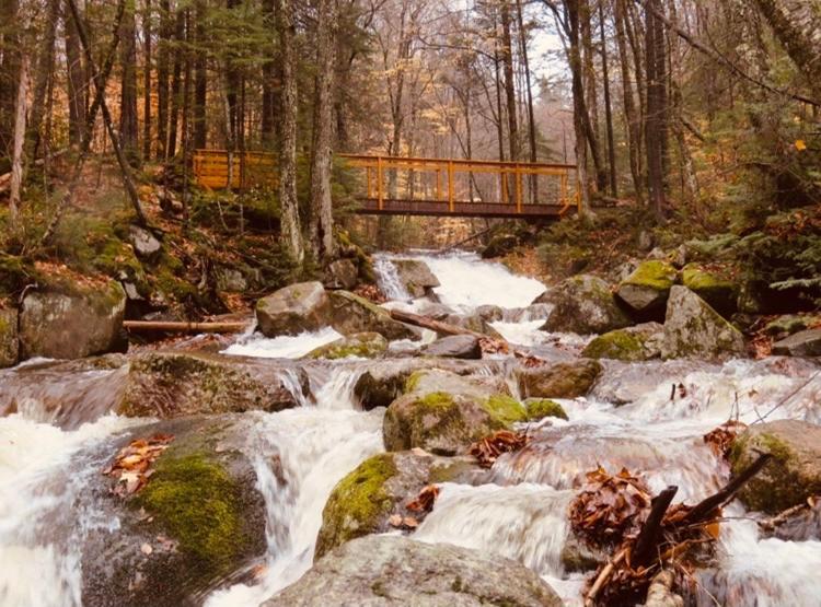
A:
MULTIPOLYGON (((586 336, 539 330, 548 310, 530 307, 544 291, 539 281, 470 254, 406 257, 425 261, 440 281, 440 304, 461 314, 478 306, 502 308, 492 323, 506 339, 550 360, 578 354, 586 336)), ((380 287, 392 302, 424 312, 397 279, 392 256, 377 257, 380 287)), ((223 353, 257 359, 297 359, 339 337, 332 328, 299 337, 268 339, 248 331, 223 353)), ((423 339, 431 340, 428 331, 423 339)), ((407 345, 392 343, 391 350, 407 345)), ((243 447, 265 499, 268 555, 257 583, 215 591, 207 607, 257 605, 298 580, 313 561, 322 510, 332 489, 366 458, 383 451, 384 409, 358 410, 352 386, 377 361, 344 359, 305 365, 311 398, 275 413, 244 413, 253 423, 243 447), (274 470, 271 462, 280 469, 274 470)), ((486 357, 487 373, 508 373, 506 357, 486 357)), ((585 472, 623 466, 643 475, 654 491, 679 486, 675 501, 696 501, 721 487, 729 469, 702 436, 738 415, 751 423, 799 419, 821 423, 821 381, 808 384, 818 366, 810 360, 770 358, 725 364, 698 361, 622 363, 603 361, 604 372, 587 398, 559 400, 569 421, 548 418, 532 424, 531 443, 506 454, 493 467, 492 483, 443 483, 432 512, 413 538, 449 542, 524 563, 562 596, 581 605, 585 579, 563 570, 560 551, 569 532, 566 511, 585 472), (671 385, 684 389, 671 399, 671 385), (799 389, 800 388, 800 389, 799 389), (777 409, 774 404, 784 401, 777 409)), ((0 371, 0 399, 19 389, 23 364, 0 371)), ((36 363, 35 363, 36 364, 36 363)), ((42 361, 41 361, 42 364, 42 361)), ((66 373, 28 388, 16 411, 0 418, 0 606, 81 605, 83 534, 116 529, 93 507, 73 507, 90 475, 106 465, 105 446, 146 423, 104 412, 117 371, 66 373), (45 399, 93 402, 73 423, 54 424, 45 399), (81 395, 81 398, 78 396, 81 395), (101 454, 101 455, 92 455, 101 454), (96 459, 95 459, 96 457, 96 459)), ((510 377, 508 377, 510 380, 510 377)), ((516 389, 516 382, 509 381, 516 389)), ((294 387, 296 389, 296 387, 294 387)), ((111 454, 108 455, 108 458, 111 454)), ((696 574, 698 605, 821 605, 821 541, 762 539, 756 524, 733 502, 720 526, 719 567, 696 574)))

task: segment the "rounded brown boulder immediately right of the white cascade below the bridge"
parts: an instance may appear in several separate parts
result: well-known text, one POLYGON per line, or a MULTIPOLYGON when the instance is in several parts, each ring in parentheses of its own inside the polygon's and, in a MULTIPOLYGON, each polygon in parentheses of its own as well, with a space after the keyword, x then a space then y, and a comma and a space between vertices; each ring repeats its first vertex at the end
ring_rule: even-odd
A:
POLYGON ((554 304, 541 327, 544 331, 602 334, 633 324, 618 307, 608 283, 590 275, 569 278, 533 303, 554 304))

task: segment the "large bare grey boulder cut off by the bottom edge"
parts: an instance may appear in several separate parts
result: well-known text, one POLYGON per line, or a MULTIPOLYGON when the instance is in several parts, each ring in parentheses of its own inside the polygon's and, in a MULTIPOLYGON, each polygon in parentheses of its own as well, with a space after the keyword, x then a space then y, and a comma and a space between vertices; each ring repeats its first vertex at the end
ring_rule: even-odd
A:
POLYGON ((448 544, 370 536, 337 548, 263 607, 562 604, 551 586, 516 561, 448 544))

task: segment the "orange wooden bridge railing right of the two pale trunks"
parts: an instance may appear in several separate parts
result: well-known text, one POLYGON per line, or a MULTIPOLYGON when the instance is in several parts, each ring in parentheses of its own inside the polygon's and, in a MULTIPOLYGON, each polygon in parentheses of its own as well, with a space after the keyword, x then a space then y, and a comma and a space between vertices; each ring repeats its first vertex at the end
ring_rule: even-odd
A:
POLYGON ((450 212, 460 202, 511 205, 518 213, 528 205, 557 205, 563 211, 579 205, 577 172, 573 164, 369 154, 339 156, 349 166, 363 170, 363 197, 375 200, 379 210, 385 208, 386 201, 402 196, 405 200, 447 202, 450 212), (478 176, 484 176, 485 180, 481 183, 478 176), (404 195, 400 195, 400 190, 404 190, 404 195))

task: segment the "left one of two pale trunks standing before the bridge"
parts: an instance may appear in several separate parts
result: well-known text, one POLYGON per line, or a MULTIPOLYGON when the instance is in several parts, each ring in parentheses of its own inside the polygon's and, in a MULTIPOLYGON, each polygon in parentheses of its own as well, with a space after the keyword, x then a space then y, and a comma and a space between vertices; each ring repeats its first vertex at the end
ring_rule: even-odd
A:
POLYGON ((281 112, 279 114, 279 206, 286 250, 298 267, 305 256, 297 199, 297 74, 296 25, 291 0, 276 0, 279 63, 281 67, 281 112))

